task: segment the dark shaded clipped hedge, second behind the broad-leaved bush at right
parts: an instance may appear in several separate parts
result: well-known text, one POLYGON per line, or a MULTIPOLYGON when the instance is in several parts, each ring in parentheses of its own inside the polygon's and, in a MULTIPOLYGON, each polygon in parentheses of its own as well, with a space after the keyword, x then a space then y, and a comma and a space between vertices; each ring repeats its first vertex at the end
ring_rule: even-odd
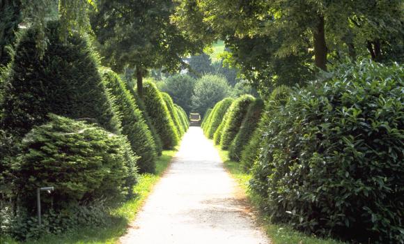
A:
POLYGON ((263 112, 264 102, 261 99, 256 99, 249 105, 247 114, 241 123, 240 130, 233 139, 230 147, 228 148, 228 157, 234 161, 241 160, 241 154, 244 147, 249 143, 251 136, 256 130, 258 121, 263 112))

